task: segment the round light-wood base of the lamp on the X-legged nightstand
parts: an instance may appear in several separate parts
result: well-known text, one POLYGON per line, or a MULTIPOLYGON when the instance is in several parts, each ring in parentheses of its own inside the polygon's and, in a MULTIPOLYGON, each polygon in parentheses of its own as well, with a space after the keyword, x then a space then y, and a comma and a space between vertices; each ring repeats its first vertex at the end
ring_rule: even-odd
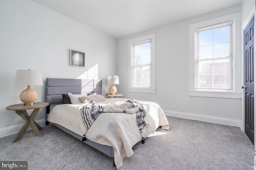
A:
POLYGON ((26 90, 20 93, 20 101, 22 101, 24 105, 34 105, 34 101, 36 101, 37 97, 37 92, 31 89, 30 85, 28 85, 26 90))

